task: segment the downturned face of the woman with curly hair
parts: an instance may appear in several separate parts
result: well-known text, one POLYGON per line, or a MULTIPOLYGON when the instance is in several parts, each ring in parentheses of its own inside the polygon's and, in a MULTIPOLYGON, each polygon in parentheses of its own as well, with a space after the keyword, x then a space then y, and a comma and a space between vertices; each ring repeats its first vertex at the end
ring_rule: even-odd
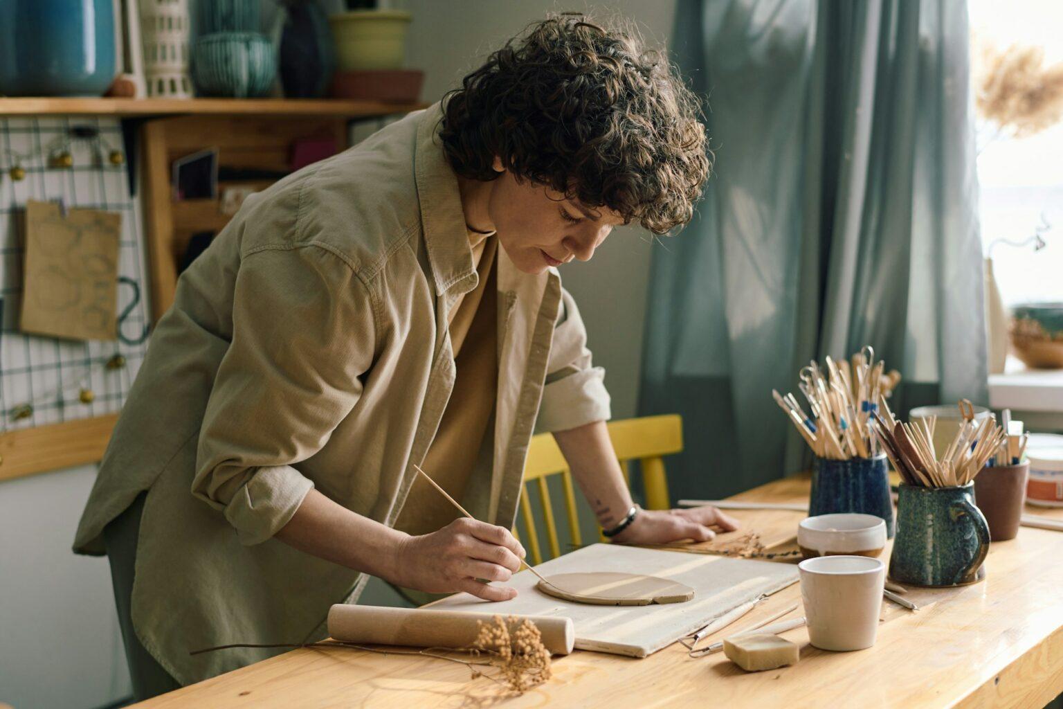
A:
POLYGON ((549 187, 518 183, 508 170, 493 181, 487 209, 509 259, 530 274, 573 258, 590 260, 612 227, 624 223, 610 209, 589 209, 549 187))

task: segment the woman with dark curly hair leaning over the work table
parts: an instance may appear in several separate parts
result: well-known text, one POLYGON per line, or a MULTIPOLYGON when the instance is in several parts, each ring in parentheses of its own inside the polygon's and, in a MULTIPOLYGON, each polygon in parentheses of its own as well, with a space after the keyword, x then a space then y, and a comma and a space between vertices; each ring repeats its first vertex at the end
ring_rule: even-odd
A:
POLYGON ((111 559, 138 698, 276 652, 190 649, 320 639, 369 574, 512 597, 537 431, 613 539, 732 528, 632 504, 556 270, 615 225, 684 224, 708 170, 669 63, 560 16, 441 103, 248 199, 182 274, 74 541, 111 559))

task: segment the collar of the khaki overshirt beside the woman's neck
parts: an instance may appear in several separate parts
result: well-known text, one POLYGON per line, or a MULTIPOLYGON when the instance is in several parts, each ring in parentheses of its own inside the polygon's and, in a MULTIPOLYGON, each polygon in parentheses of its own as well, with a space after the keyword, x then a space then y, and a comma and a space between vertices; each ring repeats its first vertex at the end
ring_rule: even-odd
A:
POLYGON ((436 292, 440 296, 455 286, 458 292, 467 292, 476 287, 477 281, 457 175, 446 162, 439 140, 442 115, 439 103, 421 114, 414 155, 424 242, 436 292))

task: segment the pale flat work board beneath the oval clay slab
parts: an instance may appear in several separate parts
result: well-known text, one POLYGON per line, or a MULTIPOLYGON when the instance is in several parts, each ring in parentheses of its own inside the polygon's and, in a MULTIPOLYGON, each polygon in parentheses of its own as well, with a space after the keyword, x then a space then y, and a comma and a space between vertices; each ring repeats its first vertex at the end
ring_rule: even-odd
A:
POLYGON ((576 648, 646 657, 678 638, 761 593, 774 593, 797 580, 793 564, 730 559, 706 554, 591 544, 536 567, 543 576, 576 572, 627 572, 660 576, 694 589, 685 603, 649 606, 595 606, 549 596, 535 588, 529 571, 514 574, 511 601, 491 603, 468 593, 433 604, 437 610, 492 612, 500 615, 560 615, 576 626, 576 648))

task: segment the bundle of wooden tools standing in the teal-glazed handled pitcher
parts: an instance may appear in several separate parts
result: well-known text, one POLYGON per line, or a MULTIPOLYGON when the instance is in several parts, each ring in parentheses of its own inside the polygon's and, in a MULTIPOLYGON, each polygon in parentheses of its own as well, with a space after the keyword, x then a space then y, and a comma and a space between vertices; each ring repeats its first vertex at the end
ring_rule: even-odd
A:
MULTIPOLYGON (((963 423, 956 438, 939 454, 933 445, 937 419, 901 423, 885 407, 884 416, 873 411, 871 428, 907 485, 924 488, 964 486, 975 479, 990 458, 1009 443, 1008 435, 992 417, 975 423, 969 401, 960 402, 963 423)), ((1007 449, 1006 449, 1007 450, 1007 449)))

